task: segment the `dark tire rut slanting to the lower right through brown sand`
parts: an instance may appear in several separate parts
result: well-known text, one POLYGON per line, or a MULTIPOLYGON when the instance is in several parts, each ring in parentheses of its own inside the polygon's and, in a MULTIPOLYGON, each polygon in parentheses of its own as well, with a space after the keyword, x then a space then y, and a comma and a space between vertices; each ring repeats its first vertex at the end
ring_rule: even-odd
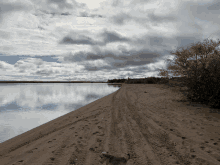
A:
POLYGON ((141 111, 137 111, 137 107, 130 104, 129 97, 127 97, 127 105, 132 119, 138 125, 141 134, 145 138, 148 146, 152 150, 151 156, 160 159, 161 164, 188 164, 187 158, 182 157, 181 154, 175 149, 174 144, 170 142, 169 136, 165 131, 158 129, 152 125, 152 119, 146 117, 141 111), (146 120, 148 119, 148 120, 146 120))

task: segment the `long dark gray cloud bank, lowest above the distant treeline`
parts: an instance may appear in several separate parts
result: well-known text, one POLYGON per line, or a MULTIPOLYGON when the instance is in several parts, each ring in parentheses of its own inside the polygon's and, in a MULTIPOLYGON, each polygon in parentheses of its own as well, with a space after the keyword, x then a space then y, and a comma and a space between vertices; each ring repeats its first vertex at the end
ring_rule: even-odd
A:
POLYGON ((126 53, 128 50, 123 48, 121 55, 111 50, 100 50, 98 47, 91 52, 80 51, 75 54, 68 54, 63 57, 64 62, 68 63, 81 63, 84 65, 85 70, 94 71, 102 69, 116 69, 124 68, 127 66, 141 66, 157 61, 161 52, 151 51, 147 49, 142 50, 129 50, 129 55, 126 53), (94 60, 103 60, 102 66, 94 66, 94 64, 87 63, 94 60), (107 63, 107 65, 106 65, 107 63))

